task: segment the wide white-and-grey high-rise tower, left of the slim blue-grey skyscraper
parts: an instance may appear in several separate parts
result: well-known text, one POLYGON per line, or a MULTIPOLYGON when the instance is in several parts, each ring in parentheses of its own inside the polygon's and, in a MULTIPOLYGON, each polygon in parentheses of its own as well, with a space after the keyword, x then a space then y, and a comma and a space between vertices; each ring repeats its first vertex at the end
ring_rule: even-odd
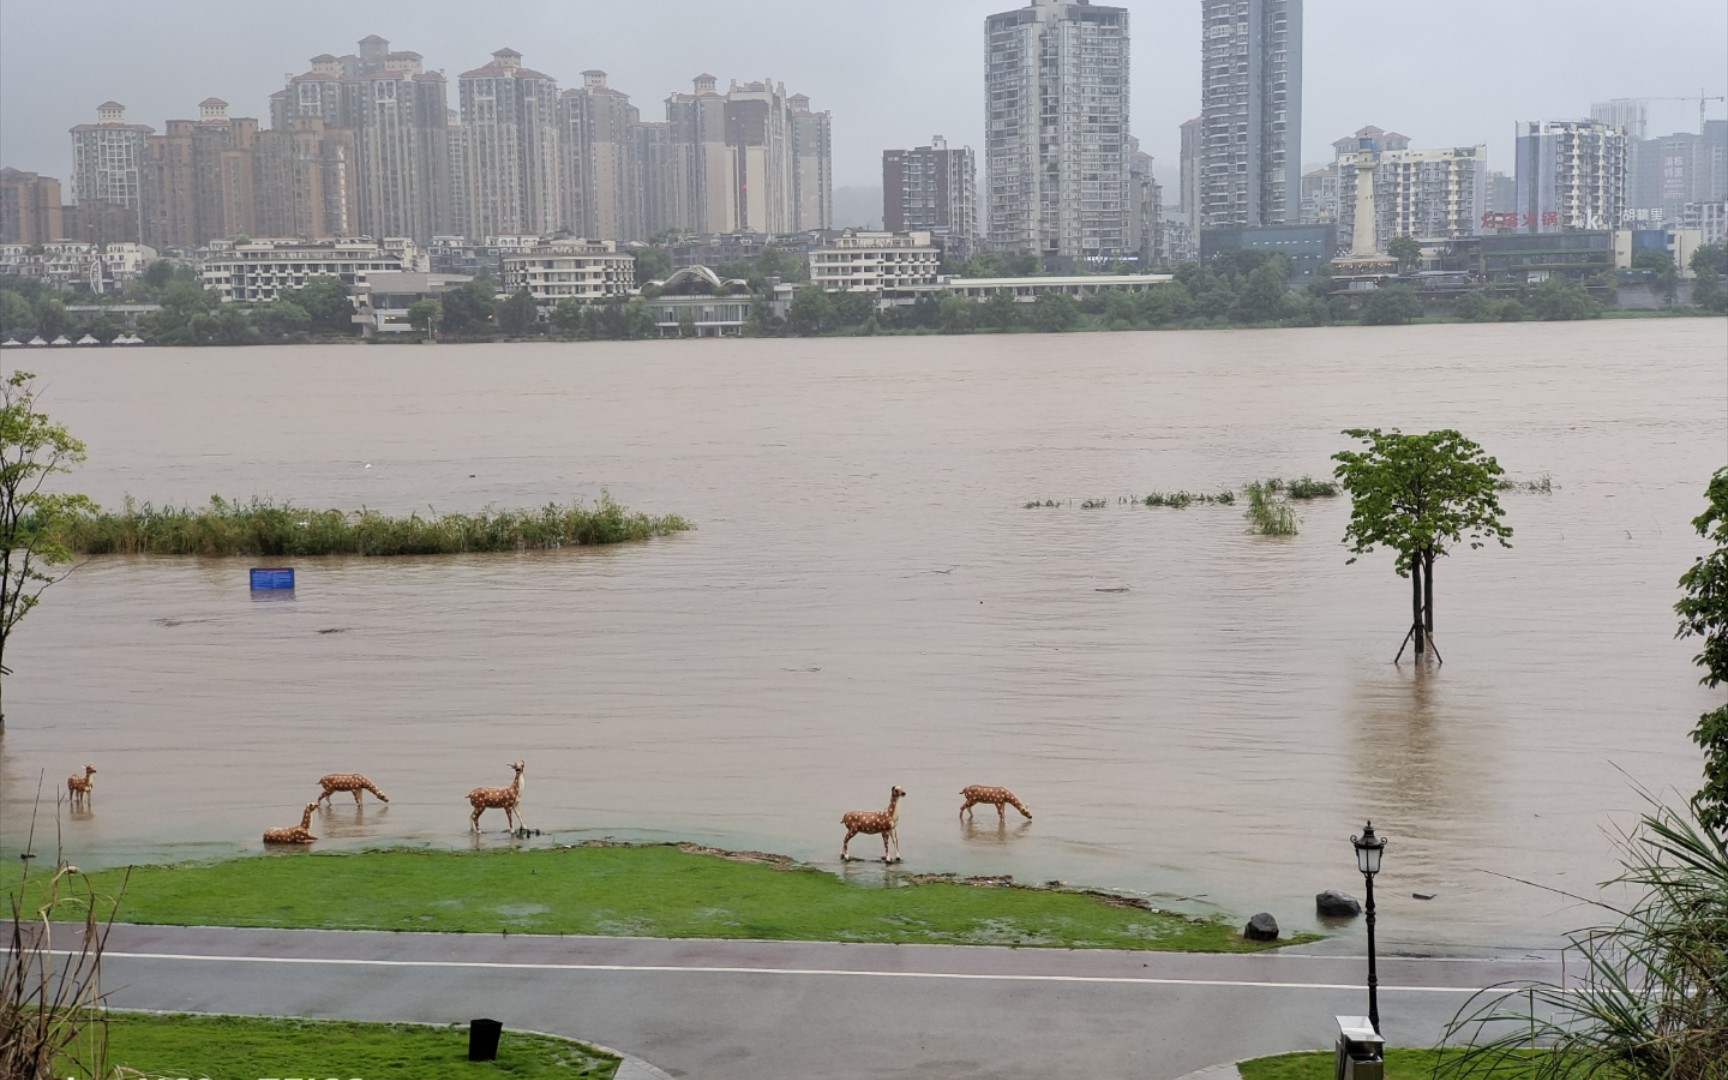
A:
POLYGON ((992 247, 1132 252, 1127 9, 1033 0, 987 17, 985 116, 992 247))

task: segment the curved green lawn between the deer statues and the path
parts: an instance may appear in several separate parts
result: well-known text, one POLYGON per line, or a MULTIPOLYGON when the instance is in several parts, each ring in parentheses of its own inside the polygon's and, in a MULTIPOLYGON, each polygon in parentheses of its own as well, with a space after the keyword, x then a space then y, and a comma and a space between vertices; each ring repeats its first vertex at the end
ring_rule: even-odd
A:
MULTIPOLYGON (((121 878, 123 871, 92 874, 97 892, 109 897, 119 892, 121 878)), ((16 873, 10 883, 16 888, 16 873)), ((1222 919, 1153 911, 1139 900, 954 881, 866 888, 772 855, 741 861, 669 845, 294 854, 140 866, 118 918, 180 926, 1185 952, 1267 947, 1244 942, 1239 928, 1222 919)))

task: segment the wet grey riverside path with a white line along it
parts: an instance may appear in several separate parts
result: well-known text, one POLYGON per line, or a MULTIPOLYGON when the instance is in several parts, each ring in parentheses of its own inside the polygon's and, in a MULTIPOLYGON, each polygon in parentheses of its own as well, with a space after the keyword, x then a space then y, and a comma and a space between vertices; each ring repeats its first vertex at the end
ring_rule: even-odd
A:
MULTIPOLYGON (((1433 1045, 1477 988, 1560 975, 1553 956, 1379 968, 1394 1045, 1433 1045)), ((1170 1080, 1325 1049, 1334 1014, 1365 1011, 1362 957, 1291 952, 116 926, 105 973, 119 1007, 496 1016, 700 1080, 1170 1080)))

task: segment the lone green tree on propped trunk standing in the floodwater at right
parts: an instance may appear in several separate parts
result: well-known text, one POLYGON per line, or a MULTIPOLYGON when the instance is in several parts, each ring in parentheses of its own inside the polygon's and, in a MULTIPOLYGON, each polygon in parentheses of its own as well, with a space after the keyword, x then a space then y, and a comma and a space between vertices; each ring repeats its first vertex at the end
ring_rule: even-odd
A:
POLYGON ((1367 444, 1332 454, 1332 475, 1351 499, 1344 529, 1350 562, 1377 546, 1393 550, 1398 575, 1410 579, 1410 634, 1420 658, 1434 632, 1434 560, 1465 541, 1471 548, 1490 539, 1512 546, 1495 491, 1505 470, 1450 429, 1405 435, 1356 427, 1344 434, 1367 444))

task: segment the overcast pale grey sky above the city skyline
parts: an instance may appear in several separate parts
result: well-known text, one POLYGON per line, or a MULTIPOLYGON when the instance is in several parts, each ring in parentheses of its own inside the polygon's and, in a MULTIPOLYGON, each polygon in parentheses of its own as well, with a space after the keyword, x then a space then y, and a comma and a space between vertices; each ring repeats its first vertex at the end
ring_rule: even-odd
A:
MULTIPOLYGON (((268 123, 268 95, 308 57, 370 35, 451 78, 499 47, 575 85, 600 67, 650 119, 710 71, 774 78, 833 112, 835 183, 880 185, 881 150, 982 145, 983 17, 1004 0, 0 0, 0 166, 62 180, 66 130, 116 98, 133 123, 195 118, 216 95, 268 123)), ((1199 111, 1199 2, 1127 0, 1134 133, 1177 161, 1199 111)), ((1303 161, 1362 124, 1417 147, 1490 143, 1510 171, 1519 119, 1586 116, 1609 97, 1725 93, 1725 0, 1310 0, 1303 161)), ((1652 102, 1652 135, 1697 128, 1697 102, 1652 102)), ((1723 102, 1711 118, 1728 116, 1723 102)), ((980 171, 982 171, 980 162, 980 171)), ((1173 202, 1173 194, 1166 195, 1173 202)))

